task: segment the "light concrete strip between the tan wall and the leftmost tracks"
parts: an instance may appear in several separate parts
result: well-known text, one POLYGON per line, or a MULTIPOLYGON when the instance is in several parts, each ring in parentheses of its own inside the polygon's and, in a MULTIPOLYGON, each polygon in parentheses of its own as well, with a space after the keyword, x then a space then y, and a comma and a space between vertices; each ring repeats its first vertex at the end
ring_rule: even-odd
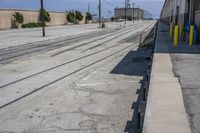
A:
MULTIPOLYGON (((130 25, 133 25, 133 23, 127 24, 127 26, 130 25)), ((98 24, 82 24, 46 27, 46 37, 42 37, 41 28, 0 30, 0 49, 49 39, 62 39, 69 36, 87 34, 92 31, 99 32, 106 29, 119 29, 123 27, 123 23, 106 23, 106 29, 99 29, 98 26, 98 24)))

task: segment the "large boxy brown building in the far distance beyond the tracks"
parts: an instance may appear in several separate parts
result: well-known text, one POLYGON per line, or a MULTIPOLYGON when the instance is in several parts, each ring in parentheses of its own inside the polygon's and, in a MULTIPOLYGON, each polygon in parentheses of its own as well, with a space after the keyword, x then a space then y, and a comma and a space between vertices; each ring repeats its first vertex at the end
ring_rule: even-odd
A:
MULTIPOLYGON (((126 18, 128 20, 142 20, 144 18, 144 10, 140 8, 127 8, 126 18)), ((124 19, 125 18, 125 8, 115 8, 115 18, 124 19)))

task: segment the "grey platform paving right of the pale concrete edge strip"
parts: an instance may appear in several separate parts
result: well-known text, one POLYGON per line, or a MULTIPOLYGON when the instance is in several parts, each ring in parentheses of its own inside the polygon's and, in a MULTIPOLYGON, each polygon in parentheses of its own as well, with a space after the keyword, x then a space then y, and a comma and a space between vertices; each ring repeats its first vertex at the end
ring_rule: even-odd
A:
POLYGON ((175 76, 181 84, 192 133, 200 133, 200 47, 181 42, 168 47, 175 76))

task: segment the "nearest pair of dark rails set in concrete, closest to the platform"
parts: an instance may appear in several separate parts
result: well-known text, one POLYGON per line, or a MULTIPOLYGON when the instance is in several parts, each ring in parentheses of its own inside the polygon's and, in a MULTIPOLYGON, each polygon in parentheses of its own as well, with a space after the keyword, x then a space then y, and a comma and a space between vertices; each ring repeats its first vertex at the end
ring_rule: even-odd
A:
MULTIPOLYGON (((136 35, 133 36, 133 37, 134 37, 134 38, 137 38, 137 37, 138 37, 138 34, 136 34, 136 35)), ((106 43, 106 42, 105 42, 105 43, 106 43)), ((112 45, 112 46, 110 46, 110 47, 104 48, 104 49, 102 49, 102 50, 99 50, 99 51, 96 51, 96 52, 93 52, 93 53, 90 53, 90 54, 85 55, 85 56, 83 56, 83 57, 76 58, 76 59, 74 59, 74 60, 71 60, 71 61, 62 63, 62 64, 60 64, 60 65, 57 65, 57 66, 54 66, 54 67, 45 69, 45 70, 43 70, 43 71, 37 72, 37 73, 35 73, 35 74, 26 76, 26 77, 24 77, 24 78, 15 80, 15 81, 10 82, 10 83, 8 83, 8 84, 2 85, 0 88, 2 89, 2 88, 5 88, 5 87, 8 87, 8 86, 10 86, 10 85, 14 85, 15 83, 18 83, 18 82, 20 82, 20 81, 23 81, 23 80, 32 78, 32 77, 34 77, 34 76, 43 74, 43 73, 45 73, 45 72, 48 72, 48 71, 51 71, 51 70, 54 70, 54 69, 57 69, 57 68, 60 68, 60 67, 62 67, 62 66, 68 65, 68 64, 70 64, 70 63, 73 63, 73 62, 76 62, 76 61, 80 61, 81 59, 90 57, 90 56, 95 55, 95 54, 97 54, 97 53, 104 52, 104 51, 106 51, 106 50, 108 50, 108 49, 111 49, 111 48, 116 47, 116 46, 119 46, 119 45, 122 45, 122 43, 117 43, 117 44, 115 44, 115 45, 112 45)), ((75 74, 75 73, 78 73, 78 72, 80 72, 80 71, 82 71, 82 70, 85 70, 85 69, 87 69, 87 68, 89 68, 89 67, 91 67, 91 66, 93 66, 93 65, 95 65, 95 64, 97 64, 97 63, 99 63, 99 62, 102 62, 102 61, 104 61, 104 60, 106 60, 106 59, 108 59, 108 58, 110 58, 110 57, 112 57, 112 56, 115 56, 115 55, 117 55, 117 54, 119 54, 119 53, 121 53, 121 52, 123 52, 123 51, 125 51, 125 50, 128 50, 129 48, 135 48, 135 47, 137 47, 136 44, 135 44, 134 46, 131 44, 131 45, 129 45, 128 47, 125 47, 125 48, 123 48, 123 49, 118 50, 117 52, 114 52, 114 53, 112 53, 112 54, 107 55, 106 57, 103 57, 103 58, 101 58, 101 59, 98 59, 97 61, 91 62, 91 63, 85 65, 84 67, 81 67, 81 68, 79 68, 79 69, 77 69, 77 70, 74 70, 74 71, 72 71, 72 72, 69 72, 68 74, 66 74, 66 75, 64 75, 64 76, 62 76, 62 77, 59 77, 59 78, 57 78, 57 79, 55 79, 55 80, 53 80, 53 81, 50 81, 50 82, 48 82, 48 83, 42 85, 41 87, 32 89, 30 92, 27 92, 26 94, 24 94, 24 95, 22 95, 22 96, 20 96, 20 97, 18 97, 18 98, 16 98, 16 99, 10 100, 9 102, 7 102, 7 103, 5 103, 5 104, 2 104, 2 105, 0 106, 0 109, 3 109, 4 107, 7 107, 7 106, 9 106, 9 105, 11 105, 11 104, 13 104, 13 103, 15 103, 15 102, 17 102, 17 101, 23 99, 23 98, 26 98, 27 96, 29 96, 29 95, 31 95, 31 94, 34 94, 35 92, 38 92, 38 91, 42 90, 43 88, 46 88, 46 87, 48 87, 48 86, 50 86, 50 85, 52 85, 52 84, 54 84, 54 83, 56 83, 56 82, 58 82, 58 81, 60 81, 60 80, 62 80, 62 79, 65 79, 65 78, 67 78, 67 77, 69 77, 69 76, 71 76, 71 75, 73 75, 73 74, 75 74)))

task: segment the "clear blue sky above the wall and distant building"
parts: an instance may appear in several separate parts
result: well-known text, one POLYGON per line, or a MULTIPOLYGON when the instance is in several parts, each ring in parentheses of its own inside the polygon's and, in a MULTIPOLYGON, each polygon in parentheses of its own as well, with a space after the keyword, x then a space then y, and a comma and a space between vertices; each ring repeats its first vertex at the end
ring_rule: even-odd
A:
MULTIPOLYGON (((110 18, 114 15, 115 7, 124 7, 125 0, 102 0, 102 15, 110 18), (111 12, 111 13, 110 13, 111 12)), ((86 12, 90 5, 90 12, 98 14, 98 0, 44 0, 44 7, 50 11, 80 10, 86 12)), ((154 18, 159 18, 164 0, 130 0, 150 12, 154 18)), ((0 8, 33 9, 40 8, 40 0, 0 0, 0 8)))

